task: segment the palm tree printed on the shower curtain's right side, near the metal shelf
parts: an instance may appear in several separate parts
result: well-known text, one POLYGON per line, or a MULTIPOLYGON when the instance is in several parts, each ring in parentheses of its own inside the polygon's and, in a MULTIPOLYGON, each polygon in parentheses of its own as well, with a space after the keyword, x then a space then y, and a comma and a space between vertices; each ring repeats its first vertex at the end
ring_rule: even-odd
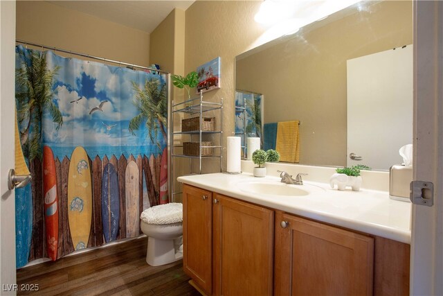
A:
POLYGON ((133 103, 140 113, 129 121, 129 132, 135 134, 134 131, 138 130, 141 123, 145 121, 147 129, 150 130, 150 140, 161 148, 161 143, 157 141, 159 130, 164 141, 168 139, 165 128, 168 125, 168 89, 166 89, 166 84, 161 83, 159 79, 151 78, 146 80, 143 89, 140 89, 136 82, 132 82, 132 87, 136 92, 133 103))

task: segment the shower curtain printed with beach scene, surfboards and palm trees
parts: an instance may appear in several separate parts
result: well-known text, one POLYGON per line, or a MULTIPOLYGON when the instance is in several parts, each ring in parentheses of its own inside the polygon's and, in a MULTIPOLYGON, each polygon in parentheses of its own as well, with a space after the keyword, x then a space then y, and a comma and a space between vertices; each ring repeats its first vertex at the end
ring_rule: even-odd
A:
POLYGON ((135 71, 16 47, 17 268, 141 234, 168 203, 168 87, 135 71))

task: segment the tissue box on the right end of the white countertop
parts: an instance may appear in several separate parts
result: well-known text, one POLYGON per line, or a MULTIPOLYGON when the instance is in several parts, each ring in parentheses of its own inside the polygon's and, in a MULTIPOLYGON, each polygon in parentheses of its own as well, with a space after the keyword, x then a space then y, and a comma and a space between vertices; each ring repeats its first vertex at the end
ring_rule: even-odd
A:
POLYGON ((413 180, 413 167, 395 164, 389 170, 389 198, 392 200, 409 200, 409 184, 413 180))

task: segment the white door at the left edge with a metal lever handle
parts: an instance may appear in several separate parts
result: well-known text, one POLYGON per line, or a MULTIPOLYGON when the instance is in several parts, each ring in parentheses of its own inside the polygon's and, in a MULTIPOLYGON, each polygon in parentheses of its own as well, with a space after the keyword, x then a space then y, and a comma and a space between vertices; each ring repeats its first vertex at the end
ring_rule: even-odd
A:
POLYGON ((0 32, 0 294, 15 295, 15 191, 7 180, 15 165, 15 1, 0 1, 0 32))

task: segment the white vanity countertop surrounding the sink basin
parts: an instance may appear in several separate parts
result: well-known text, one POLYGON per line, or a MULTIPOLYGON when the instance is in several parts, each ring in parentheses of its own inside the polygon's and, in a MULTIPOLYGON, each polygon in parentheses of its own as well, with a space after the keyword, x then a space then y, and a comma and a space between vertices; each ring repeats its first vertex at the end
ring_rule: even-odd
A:
POLYGON ((402 243, 410 243, 411 204, 410 202, 391 200, 386 191, 368 189, 338 191, 331 189, 329 184, 305 181, 306 186, 283 185, 306 189, 310 192, 309 195, 278 196, 249 193, 239 189, 239 184, 242 182, 281 184, 278 177, 257 178, 249 173, 188 175, 179 177, 177 180, 264 207, 390 238, 402 243))

